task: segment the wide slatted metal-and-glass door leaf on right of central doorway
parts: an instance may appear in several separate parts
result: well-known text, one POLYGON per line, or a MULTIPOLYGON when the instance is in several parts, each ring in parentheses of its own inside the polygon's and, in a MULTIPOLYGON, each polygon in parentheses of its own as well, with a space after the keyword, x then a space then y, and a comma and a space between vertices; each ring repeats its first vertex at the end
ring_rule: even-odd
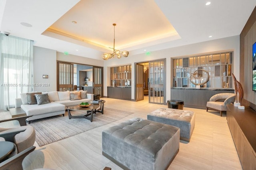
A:
POLYGON ((165 60, 149 62, 149 103, 166 104, 165 60))

